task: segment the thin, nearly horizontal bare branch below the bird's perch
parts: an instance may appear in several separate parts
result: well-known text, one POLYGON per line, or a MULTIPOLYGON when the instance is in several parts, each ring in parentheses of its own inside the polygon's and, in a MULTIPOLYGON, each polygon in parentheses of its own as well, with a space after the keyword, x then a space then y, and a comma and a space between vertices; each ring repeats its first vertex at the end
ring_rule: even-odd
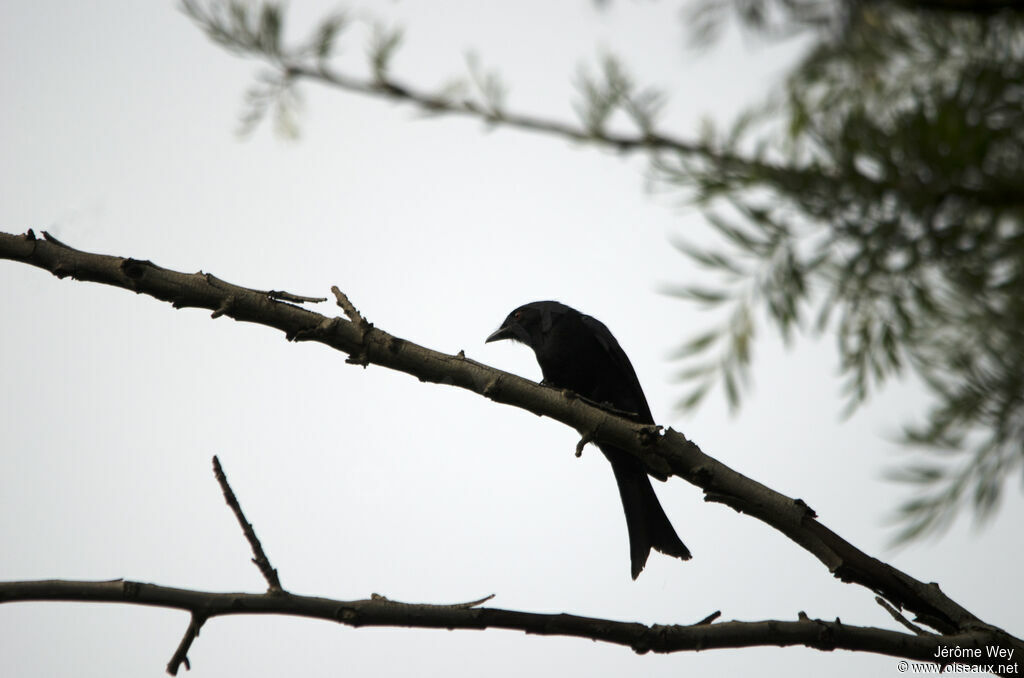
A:
MULTIPOLYGON (((725 647, 806 645, 820 650, 848 649, 890 654, 921 662, 934 661, 940 647, 990 646, 996 641, 982 631, 949 636, 916 636, 899 631, 849 626, 801 616, 799 621, 723 622, 693 625, 645 625, 631 622, 542 615, 456 603, 406 603, 373 595, 365 600, 333 600, 291 593, 212 593, 156 584, 112 582, 5 582, 0 603, 38 600, 116 602, 181 609, 196 620, 229 615, 289 615, 338 622, 351 627, 410 627, 423 629, 508 629, 546 636, 570 636, 625 645, 636 652, 678 652, 725 647)), ((191 625, 189 628, 191 628, 191 625)), ((195 637, 195 636, 193 636, 195 637)), ((188 636, 186 635, 186 639, 188 636)), ((182 641, 184 643, 184 641, 182 641)), ((1002 647, 1008 647, 1002 645, 1002 647)), ((187 647, 184 648, 184 651, 187 647)), ((184 651, 175 652, 178 664, 184 651)), ((1015 656, 1019 655, 1015 652, 1015 656)), ((959 661, 959 660, 958 660, 959 661)), ((978 664, 990 659, 972 660, 978 664)), ((174 673, 177 665, 171 670, 174 673)))

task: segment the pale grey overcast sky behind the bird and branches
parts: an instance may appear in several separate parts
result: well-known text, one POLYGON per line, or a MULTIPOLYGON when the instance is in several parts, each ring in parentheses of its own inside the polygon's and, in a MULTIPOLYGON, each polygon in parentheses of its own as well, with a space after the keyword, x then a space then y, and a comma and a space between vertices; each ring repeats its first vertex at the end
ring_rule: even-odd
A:
MULTIPOLYGON (((571 116, 568 83, 601 49, 672 95, 669 125, 725 124, 777 86, 797 45, 683 47, 674 3, 294 2, 294 28, 338 6, 406 27, 395 75, 438 86, 475 50, 509 107, 571 116)), ((709 319, 657 292, 697 271, 669 245, 700 216, 644 190, 635 158, 304 87, 302 136, 233 135, 255 63, 212 45, 172 2, 0 6, 0 228, 206 270, 261 289, 345 290, 379 327, 531 378, 528 349, 483 345, 519 303, 555 298, 604 321, 655 418, 801 497, 868 552, 982 619, 1024 627, 1012 492, 995 523, 886 551, 889 438, 924 406, 912 385, 840 422, 827 339, 757 345, 738 416, 721 397, 681 419, 667 356, 709 319)), ((360 70, 365 32, 339 68, 360 70)), ((218 454, 285 587, 424 602, 497 594, 536 611, 689 623, 812 617, 893 627, 779 534, 694 488, 656 483, 694 559, 629 577, 622 509, 599 453, 550 420, 262 327, 0 262, 0 580, 126 578, 261 591, 210 472, 218 454)), ((335 308, 324 304, 321 312, 335 308)), ((3 674, 161 675, 182 612, 0 605, 3 674)), ((639 656, 519 633, 352 630, 287 618, 210 622, 193 675, 862 676, 896 660, 803 648, 639 656)))

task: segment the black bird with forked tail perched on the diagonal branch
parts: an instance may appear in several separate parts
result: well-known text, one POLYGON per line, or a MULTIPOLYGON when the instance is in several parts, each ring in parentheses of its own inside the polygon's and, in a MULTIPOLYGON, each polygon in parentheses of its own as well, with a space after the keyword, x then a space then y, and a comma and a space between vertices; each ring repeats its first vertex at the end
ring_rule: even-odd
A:
MULTIPOLYGON (((534 301, 509 313, 487 337, 488 342, 501 339, 534 349, 545 384, 608 404, 639 423, 654 423, 630 358, 597 319, 557 301, 534 301)), ((623 500, 633 579, 643 570, 651 549, 689 560, 689 549, 665 515, 640 460, 607 444, 600 450, 611 462, 623 500)))

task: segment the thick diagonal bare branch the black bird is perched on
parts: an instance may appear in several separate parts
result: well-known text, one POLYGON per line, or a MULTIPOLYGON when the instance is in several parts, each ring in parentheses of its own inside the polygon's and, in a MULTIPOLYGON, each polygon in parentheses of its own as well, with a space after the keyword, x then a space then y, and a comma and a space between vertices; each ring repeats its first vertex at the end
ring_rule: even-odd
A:
POLYGON ((497 402, 547 416, 595 442, 613 444, 636 455, 660 479, 679 476, 703 490, 707 501, 726 504, 775 527, 813 554, 844 582, 856 583, 907 609, 915 621, 943 634, 976 631, 992 643, 1021 649, 1024 642, 983 623, 946 596, 937 584, 925 584, 843 540, 817 520, 799 499, 779 494, 705 455, 681 433, 637 425, 562 391, 467 358, 449 355, 383 332, 369 323, 357 326, 327 317, 265 293, 220 281, 209 273, 181 273, 150 261, 90 254, 53 242, 0 234, 0 258, 45 268, 58 278, 72 277, 148 294, 175 307, 199 307, 238 321, 276 328, 291 340, 318 341, 368 364, 398 370, 421 381, 465 388, 497 402))

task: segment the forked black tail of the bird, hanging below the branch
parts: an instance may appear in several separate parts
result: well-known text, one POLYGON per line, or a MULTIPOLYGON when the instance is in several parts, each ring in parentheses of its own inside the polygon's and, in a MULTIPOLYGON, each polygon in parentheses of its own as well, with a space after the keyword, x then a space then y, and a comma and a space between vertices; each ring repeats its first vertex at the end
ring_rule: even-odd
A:
POLYGON ((657 495, 650 485, 650 477, 640 460, 618 451, 604 451, 615 473, 618 496, 626 513, 626 527, 630 533, 630 563, 633 579, 640 576, 651 549, 681 560, 690 559, 690 551, 683 544, 669 522, 657 495))

